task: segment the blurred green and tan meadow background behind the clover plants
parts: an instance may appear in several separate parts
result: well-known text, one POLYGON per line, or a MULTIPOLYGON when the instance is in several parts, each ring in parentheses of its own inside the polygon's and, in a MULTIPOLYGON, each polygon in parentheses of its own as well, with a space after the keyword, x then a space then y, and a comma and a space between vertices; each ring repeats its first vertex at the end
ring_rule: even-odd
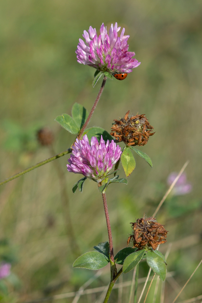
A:
MULTIPOLYGON (((75 135, 62 129, 55 117, 71 113, 75 102, 90 111, 101 80, 92 87, 94 69, 78 64, 78 39, 89 26, 99 31, 104 22, 125 27, 129 51, 141 65, 125 81, 108 80, 89 126, 110 132, 113 119, 131 113, 145 114, 156 132, 140 149, 153 161, 153 169, 137 155, 128 185, 108 189, 115 252, 126 246, 130 222, 151 216, 168 188, 167 176, 179 171, 186 160, 191 193, 167 199, 157 220, 169 230, 173 243, 167 263, 175 271, 174 286, 165 284, 165 302, 172 302, 176 288, 202 258, 201 199, 201 98, 202 98, 202 2, 200 0, 7 0, 0 3, 0 178, 9 177, 52 155, 36 141, 36 131, 48 126, 55 134, 54 151, 67 149, 75 135), (176 286, 177 285, 177 286, 176 286)), ((123 147, 123 143, 120 144, 123 147)), ((0 238, 15 247, 12 272, 21 281, 15 288, 6 281, 9 294, 2 302, 23 302, 76 291, 94 272, 72 268, 80 253, 107 241, 101 195, 87 180, 83 193, 71 191, 80 175, 66 171, 68 156, 57 159, 66 177, 69 209, 64 209, 53 161, 0 188, 0 238), (67 230, 65 211, 73 231, 67 230), (72 252, 72 239, 77 252, 72 252), (70 241, 71 240, 71 241, 70 241)), ((124 177, 123 170, 120 176, 124 177)), ((165 253, 167 244, 160 251, 165 253)), ((148 267, 141 264, 140 276, 148 267)), ((132 272, 123 276, 130 280, 132 272)), ((89 287, 107 285, 109 269, 89 287)), ((202 294, 202 267, 183 295, 202 294)), ((180 286, 179 286, 180 285, 180 286)), ((140 290, 141 291, 141 286, 140 290)), ((152 302, 151 291, 148 302, 152 302)), ((129 288, 124 288, 123 302, 129 288)), ((93 303, 100 293, 82 296, 93 303)), ((182 298, 183 299, 183 298, 182 298)), ((58 300, 71 302, 73 298, 58 300)), ((160 302, 160 291, 157 302, 160 302)), ((114 290, 109 302, 117 302, 114 290)))

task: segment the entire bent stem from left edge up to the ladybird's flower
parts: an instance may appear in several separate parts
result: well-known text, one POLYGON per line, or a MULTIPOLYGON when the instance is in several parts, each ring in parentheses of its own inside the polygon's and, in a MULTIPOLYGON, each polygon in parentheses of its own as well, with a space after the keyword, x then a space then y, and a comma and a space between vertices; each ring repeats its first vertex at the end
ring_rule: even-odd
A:
MULTIPOLYGON (((89 123, 89 121, 90 121, 90 119, 91 119, 91 117, 92 117, 92 115, 93 115, 93 113, 94 113, 94 110, 95 110, 95 108, 96 108, 96 106, 97 106, 97 104, 98 104, 98 101, 99 101, 99 99, 100 99, 100 97, 101 97, 101 94, 102 94, 102 92, 103 92, 103 89, 104 89, 104 85, 105 85, 105 83, 106 83, 106 80, 107 80, 107 77, 104 76, 103 81, 102 81, 101 88, 100 88, 99 93, 98 93, 98 96, 97 96, 97 98, 96 98, 96 100, 95 100, 95 102, 94 102, 94 105, 93 105, 93 107, 92 107, 92 109, 91 109, 90 114, 88 115, 88 118, 87 118, 86 122, 84 123, 83 127, 81 128, 81 131, 79 132, 79 134, 78 134, 78 136, 77 136, 78 139, 81 138, 81 135, 83 134, 84 130, 86 129, 86 127, 87 127, 87 125, 88 125, 88 123, 89 123)), ((74 143, 73 143, 72 145, 74 145, 74 143)), ((71 146, 72 146, 72 145, 71 145, 71 146)), ((59 154, 57 154, 57 155, 55 155, 55 156, 52 156, 51 158, 48 158, 48 159, 43 160, 43 161, 41 161, 41 162, 39 162, 39 163, 37 163, 37 164, 35 164, 35 165, 32 165, 32 166, 30 166, 30 167, 24 169, 23 171, 21 171, 21 172, 15 174, 15 175, 13 175, 13 176, 11 176, 11 177, 9 177, 9 178, 3 180, 2 182, 0 182, 0 185, 3 185, 3 184, 5 184, 5 183, 7 183, 7 182, 9 182, 9 181, 12 181, 13 179, 18 178, 18 177, 20 177, 20 176, 26 174, 27 172, 29 172, 29 171, 31 171, 31 170, 33 170, 33 169, 35 169, 35 168, 40 167, 41 165, 44 165, 44 164, 46 164, 46 163, 48 163, 48 162, 51 162, 51 161, 53 161, 53 160, 55 160, 55 159, 57 159, 57 158, 60 158, 60 157, 62 157, 62 156, 64 156, 64 155, 67 155, 67 154, 71 153, 71 151, 72 151, 72 149, 71 149, 71 147, 70 147, 70 148, 68 148, 67 150, 60 152, 59 154)))

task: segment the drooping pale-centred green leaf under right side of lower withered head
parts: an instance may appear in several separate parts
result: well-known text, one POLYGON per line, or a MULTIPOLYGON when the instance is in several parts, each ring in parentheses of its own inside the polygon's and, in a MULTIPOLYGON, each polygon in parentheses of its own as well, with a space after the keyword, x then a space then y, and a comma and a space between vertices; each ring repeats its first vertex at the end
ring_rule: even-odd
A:
POLYGON ((164 281, 166 278, 166 265, 164 260, 154 251, 147 251, 147 264, 151 269, 160 276, 161 280, 164 281))

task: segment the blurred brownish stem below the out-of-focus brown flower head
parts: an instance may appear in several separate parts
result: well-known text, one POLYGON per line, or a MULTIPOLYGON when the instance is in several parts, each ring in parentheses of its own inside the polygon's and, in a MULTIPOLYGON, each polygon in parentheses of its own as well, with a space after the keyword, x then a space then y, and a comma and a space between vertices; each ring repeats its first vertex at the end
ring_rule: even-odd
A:
MULTIPOLYGON (((51 154, 54 154, 54 149, 52 146, 50 146, 50 152, 51 154)), ((77 245, 76 242, 76 238, 74 235, 74 229, 72 226, 72 221, 71 221, 71 215, 70 215, 70 207, 69 207, 69 198, 68 198, 68 192, 67 192, 67 182, 66 182, 66 176, 65 173, 60 165, 60 163, 58 161, 54 162, 55 165, 55 169, 58 173, 58 180, 60 183, 60 189, 61 189, 61 201, 62 201, 62 205, 63 205, 63 214, 64 214, 64 218, 65 218, 65 226, 66 226, 66 231, 67 231, 67 235, 68 235, 68 239, 69 239, 69 246, 71 249, 71 252, 75 255, 75 256, 79 256, 81 255, 81 252, 79 250, 79 247, 77 245)))

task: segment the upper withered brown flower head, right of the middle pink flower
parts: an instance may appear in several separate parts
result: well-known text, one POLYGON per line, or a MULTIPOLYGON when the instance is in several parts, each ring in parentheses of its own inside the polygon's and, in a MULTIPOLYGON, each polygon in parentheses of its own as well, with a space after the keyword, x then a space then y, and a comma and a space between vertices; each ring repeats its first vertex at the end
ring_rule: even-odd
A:
POLYGON ((142 146, 147 144, 149 136, 154 135, 151 130, 154 129, 148 122, 145 115, 136 115, 128 117, 128 111, 124 118, 114 120, 116 123, 112 126, 110 135, 117 140, 123 141, 126 145, 142 146))

